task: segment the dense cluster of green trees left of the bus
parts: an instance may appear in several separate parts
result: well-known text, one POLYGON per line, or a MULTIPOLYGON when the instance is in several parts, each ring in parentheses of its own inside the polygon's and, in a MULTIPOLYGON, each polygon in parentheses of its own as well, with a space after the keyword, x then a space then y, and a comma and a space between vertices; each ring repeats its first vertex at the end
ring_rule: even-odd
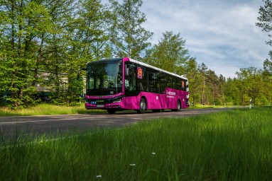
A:
POLYGON ((83 83, 79 67, 109 57, 107 11, 100 1, 0 1, 1 93, 11 107, 36 103, 40 89, 53 103, 75 105, 83 83), (10 76, 6 76, 9 74, 10 76))

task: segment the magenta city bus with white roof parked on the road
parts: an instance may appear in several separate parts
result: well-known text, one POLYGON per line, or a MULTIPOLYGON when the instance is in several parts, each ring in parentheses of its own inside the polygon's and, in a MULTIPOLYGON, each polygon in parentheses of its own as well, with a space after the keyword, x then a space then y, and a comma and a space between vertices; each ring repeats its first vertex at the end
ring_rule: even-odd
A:
POLYGON ((189 107, 189 83, 129 57, 87 63, 85 108, 109 114, 121 110, 180 111, 189 107))

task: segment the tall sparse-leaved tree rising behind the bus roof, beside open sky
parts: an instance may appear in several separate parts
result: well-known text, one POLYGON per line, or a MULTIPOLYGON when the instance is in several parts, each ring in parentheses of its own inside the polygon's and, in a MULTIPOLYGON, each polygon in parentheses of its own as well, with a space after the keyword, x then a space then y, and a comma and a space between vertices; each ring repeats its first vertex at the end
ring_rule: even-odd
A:
POLYGON ((122 4, 110 0, 114 22, 111 26, 111 42, 114 53, 119 57, 129 56, 141 59, 141 54, 151 45, 148 40, 153 33, 145 30, 141 24, 146 21, 146 16, 139 8, 141 0, 124 0, 122 4))

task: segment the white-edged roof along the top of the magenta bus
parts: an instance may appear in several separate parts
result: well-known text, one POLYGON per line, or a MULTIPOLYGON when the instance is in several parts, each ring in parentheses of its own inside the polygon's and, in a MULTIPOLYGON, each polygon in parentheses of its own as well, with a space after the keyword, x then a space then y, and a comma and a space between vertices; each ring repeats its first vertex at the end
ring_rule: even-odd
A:
POLYGON ((135 60, 135 59, 131 59, 129 57, 124 57, 124 58, 115 58, 115 59, 102 59, 102 60, 97 60, 97 61, 94 61, 94 62, 88 62, 87 64, 97 64, 97 63, 102 63, 102 62, 109 62, 109 61, 118 61, 118 60, 124 60, 124 61, 129 61, 129 62, 134 62, 136 64, 140 64, 142 66, 146 66, 148 68, 151 68, 151 69, 154 69, 154 70, 157 70, 157 71, 161 71, 161 72, 164 72, 165 74, 169 74, 171 76, 176 76, 178 78, 183 78, 185 80, 188 80, 185 76, 179 76, 178 74, 173 74, 172 72, 170 71, 165 71, 163 69, 159 69, 158 67, 156 66, 151 66, 151 65, 148 65, 146 63, 143 63, 143 62, 140 62, 138 60, 135 60))

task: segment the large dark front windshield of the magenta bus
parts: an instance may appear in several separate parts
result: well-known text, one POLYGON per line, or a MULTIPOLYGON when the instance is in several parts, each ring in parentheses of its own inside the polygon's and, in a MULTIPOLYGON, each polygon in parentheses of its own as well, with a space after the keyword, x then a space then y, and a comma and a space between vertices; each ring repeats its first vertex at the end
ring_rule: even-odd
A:
POLYGON ((91 62, 87 65, 87 95, 114 95, 122 91, 122 62, 91 62))

